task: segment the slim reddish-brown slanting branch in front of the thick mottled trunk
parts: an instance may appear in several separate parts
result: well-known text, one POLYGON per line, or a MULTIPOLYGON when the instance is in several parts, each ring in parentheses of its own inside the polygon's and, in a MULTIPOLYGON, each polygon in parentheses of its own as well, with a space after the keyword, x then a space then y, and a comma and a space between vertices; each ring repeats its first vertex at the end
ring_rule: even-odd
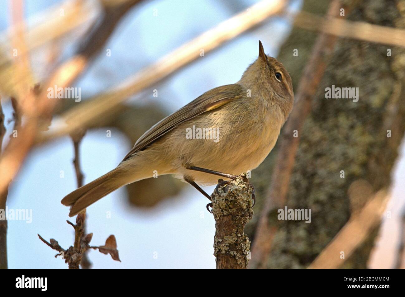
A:
MULTIPOLYGON (((330 4, 327 15, 330 17, 337 11, 339 11, 339 0, 334 0, 330 4)), ((328 54, 332 51, 336 39, 335 36, 320 34, 305 67, 295 96, 295 106, 279 138, 280 149, 271 178, 271 189, 260 214, 249 267, 261 268, 269 257, 273 238, 277 232, 277 226, 271 226, 269 223, 269 213, 283 207, 286 202, 290 176, 299 144, 299 138, 293 137, 294 130, 301 131, 303 123, 311 111, 313 95, 324 74, 328 54)))

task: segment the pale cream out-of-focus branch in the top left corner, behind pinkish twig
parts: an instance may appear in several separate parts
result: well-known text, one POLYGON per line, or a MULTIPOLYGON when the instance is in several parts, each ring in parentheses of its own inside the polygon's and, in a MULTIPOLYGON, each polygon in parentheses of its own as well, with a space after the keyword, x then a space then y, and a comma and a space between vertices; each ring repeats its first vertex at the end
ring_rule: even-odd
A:
MULTIPOLYGON (((14 7, 19 3, 11 2, 14 7)), ((21 85, 24 84, 32 86, 35 78, 29 68, 17 68, 19 64, 15 64, 15 59, 27 56, 33 49, 51 40, 57 40, 66 32, 88 21, 90 16, 94 15, 94 7, 88 5, 90 2, 94 4, 94 0, 68 1, 38 13, 32 18, 36 21, 32 28, 26 28, 23 15, 19 13, 21 9, 13 9, 13 15, 21 17, 19 19, 13 17, 11 28, 2 34, 2 42, 0 42, 0 89, 4 94, 19 100, 26 97, 18 93, 16 88, 21 89, 21 85), (16 34, 18 32, 19 34, 16 34), (29 42, 16 44, 16 40, 22 42, 29 40, 29 42)))

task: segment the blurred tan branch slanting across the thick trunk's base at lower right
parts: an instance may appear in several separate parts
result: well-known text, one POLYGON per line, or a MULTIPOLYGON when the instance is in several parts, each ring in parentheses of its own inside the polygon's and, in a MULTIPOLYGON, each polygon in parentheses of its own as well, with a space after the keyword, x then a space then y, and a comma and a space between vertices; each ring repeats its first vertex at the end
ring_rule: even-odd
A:
POLYGON ((375 194, 358 214, 350 218, 308 268, 339 268, 367 238, 371 230, 379 225, 388 200, 386 191, 375 194))

